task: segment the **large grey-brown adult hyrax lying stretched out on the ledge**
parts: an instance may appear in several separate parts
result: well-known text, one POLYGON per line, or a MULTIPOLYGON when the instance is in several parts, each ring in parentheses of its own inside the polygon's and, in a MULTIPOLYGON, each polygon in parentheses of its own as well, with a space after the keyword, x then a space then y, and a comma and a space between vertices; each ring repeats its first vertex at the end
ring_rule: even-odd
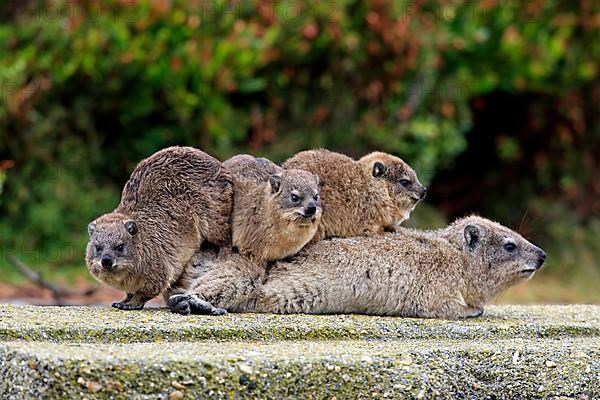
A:
MULTIPOLYGON (((501 291, 531 278, 545 258, 519 234, 472 216, 438 231, 322 241, 277 262, 245 301, 204 298, 237 312, 476 317, 501 291)), ((213 268, 226 273, 248 262, 231 258, 213 268)), ((194 289, 174 296, 172 309, 194 312, 197 298, 194 289)))

